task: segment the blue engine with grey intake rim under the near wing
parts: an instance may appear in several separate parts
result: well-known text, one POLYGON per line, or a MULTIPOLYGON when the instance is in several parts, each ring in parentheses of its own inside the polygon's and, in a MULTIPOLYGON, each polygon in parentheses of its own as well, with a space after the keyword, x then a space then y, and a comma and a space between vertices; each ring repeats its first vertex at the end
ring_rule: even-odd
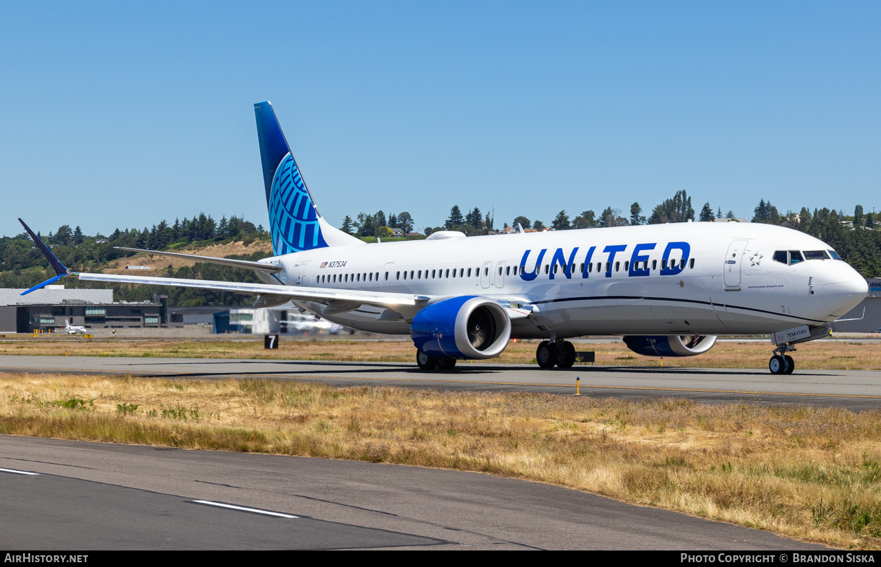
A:
POLYGON ((489 298, 449 298, 417 313, 410 335, 416 348, 429 357, 498 357, 511 337, 511 318, 489 298))

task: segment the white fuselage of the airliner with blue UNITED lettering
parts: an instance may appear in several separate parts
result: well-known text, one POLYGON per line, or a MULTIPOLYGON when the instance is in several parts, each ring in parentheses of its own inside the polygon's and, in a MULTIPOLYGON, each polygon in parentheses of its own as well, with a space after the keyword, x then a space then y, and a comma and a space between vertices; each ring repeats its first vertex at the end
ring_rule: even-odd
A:
MULTIPOLYGON (((512 336, 767 334, 840 318, 868 286, 832 247, 772 225, 680 223, 322 247, 269 259, 267 283, 535 306, 512 336)), ((313 313, 326 304, 295 302, 313 313)), ((409 334, 359 306, 326 316, 409 334)))

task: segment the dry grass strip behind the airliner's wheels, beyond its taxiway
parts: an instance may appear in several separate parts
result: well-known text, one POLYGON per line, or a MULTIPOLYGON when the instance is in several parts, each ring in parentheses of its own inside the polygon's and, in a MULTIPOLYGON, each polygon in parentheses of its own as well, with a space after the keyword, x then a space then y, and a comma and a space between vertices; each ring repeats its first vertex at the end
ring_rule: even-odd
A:
MULTIPOLYGON (((502 364, 534 364, 537 341, 510 342, 498 358, 481 361, 502 364)), ((600 366, 660 366, 655 357, 642 357, 628 350, 623 342, 578 344, 578 350, 596 351, 600 366)), ((666 358, 664 367, 764 368, 771 357, 771 342, 717 342, 700 357, 666 358)), ((278 350, 263 350, 263 337, 253 341, 188 341, 179 339, 82 339, 63 337, 33 341, 0 342, 0 354, 88 357, 187 357, 187 358, 282 358, 297 360, 344 360, 413 362, 415 350, 410 341, 287 341, 278 350)), ((795 355, 798 369, 878 370, 881 368, 881 342, 839 340, 801 345, 795 355)), ((461 363, 461 364, 468 364, 461 363)))

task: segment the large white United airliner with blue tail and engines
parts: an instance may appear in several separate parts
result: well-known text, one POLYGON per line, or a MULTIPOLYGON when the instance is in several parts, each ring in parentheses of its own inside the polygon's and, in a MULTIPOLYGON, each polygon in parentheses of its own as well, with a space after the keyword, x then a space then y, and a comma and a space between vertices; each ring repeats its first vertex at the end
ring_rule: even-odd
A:
POLYGON ((434 232, 366 245, 319 214, 270 103, 255 114, 275 255, 149 252, 254 269, 265 284, 73 273, 25 226, 57 274, 26 293, 74 275, 236 291, 256 295, 256 307, 292 301, 346 327, 411 335, 423 370, 498 357, 512 338, 543 339, 538 365, 567 368, 575 350, 566 339, 581 335, 624 335, 631 350, 663 357, 699 355, 717 335, 771 335, 769 368, 789 373, 794 345, 828 335, 869 291, 832 247, 771 225, 434 232))

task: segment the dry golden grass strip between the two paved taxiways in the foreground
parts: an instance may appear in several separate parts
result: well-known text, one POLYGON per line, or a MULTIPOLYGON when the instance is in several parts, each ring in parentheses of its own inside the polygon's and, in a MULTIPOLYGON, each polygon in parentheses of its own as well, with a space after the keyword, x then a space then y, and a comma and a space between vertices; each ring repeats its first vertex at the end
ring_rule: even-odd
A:
POLYGON ((877 411, 0 374, 0 433, 480 471, 881 547, 877 411))

